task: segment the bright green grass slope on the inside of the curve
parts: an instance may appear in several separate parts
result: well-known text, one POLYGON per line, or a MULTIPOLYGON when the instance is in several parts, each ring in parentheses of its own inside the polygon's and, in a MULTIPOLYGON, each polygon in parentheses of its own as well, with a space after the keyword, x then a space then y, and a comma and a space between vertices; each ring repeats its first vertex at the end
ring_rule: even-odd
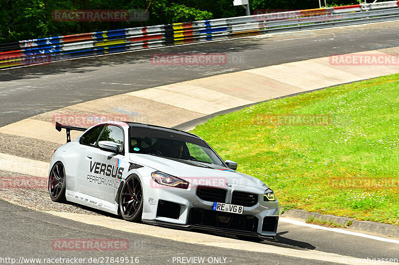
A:
POLYGON ((237 162, 238 171, 274 189, 286 209, 399 225, 398 80, 399 74, 270 100, 192 132, 237 162), (331 120, 319 126, 261 122, 270 114, 331 120))

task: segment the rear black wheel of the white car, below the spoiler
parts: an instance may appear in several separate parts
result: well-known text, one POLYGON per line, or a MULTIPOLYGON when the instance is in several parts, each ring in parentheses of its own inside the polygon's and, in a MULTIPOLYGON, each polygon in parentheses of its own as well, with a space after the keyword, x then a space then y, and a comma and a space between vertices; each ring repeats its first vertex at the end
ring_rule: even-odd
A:
POLYGON ((54 164, 48 176, 47 188, 52 201, 66 202, 65 198, 65 169, 61 162, 54 164))

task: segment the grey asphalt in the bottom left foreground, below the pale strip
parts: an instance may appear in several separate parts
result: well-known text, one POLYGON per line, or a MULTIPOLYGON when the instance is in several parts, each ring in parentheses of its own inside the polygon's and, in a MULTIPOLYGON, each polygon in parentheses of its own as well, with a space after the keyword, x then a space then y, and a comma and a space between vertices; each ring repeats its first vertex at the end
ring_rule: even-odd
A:
MULTIPOLYGON (((273 264, 326 264, 314 260, 265 253, 253 255, 246 251, 231 251, 126 233, 28 210, 3 200, 0 200, 0 214, 4 221, 17 220, 17 222, 2 222, 0 257, 14 258, 17 261, 21 256, 25 259, 76 257, 86 259, 86 261, 96 257, 133 257, 134 259, 137 257, 140 261, 139 264, 159 265, 173 264, 173 257, 205 257, 206 260, 209 257, 223 257, 226 258, 226 264, 262 264, 267 260, 273 260, 273 264), (51 243, 54 239, 60 238, 127 239, 129 250, 102 252, 54 250, 51 243)), ((3 265, 3 263, 1 264, 3 265)))

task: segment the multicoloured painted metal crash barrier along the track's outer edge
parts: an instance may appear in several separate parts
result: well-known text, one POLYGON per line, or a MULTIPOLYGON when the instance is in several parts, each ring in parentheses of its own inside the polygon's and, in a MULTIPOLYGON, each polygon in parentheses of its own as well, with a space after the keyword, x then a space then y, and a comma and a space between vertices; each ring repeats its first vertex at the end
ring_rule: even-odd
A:
POLYGON ((0 68, 251 36, 399 19, 399 0, 126 28, 0 44, 0 68))

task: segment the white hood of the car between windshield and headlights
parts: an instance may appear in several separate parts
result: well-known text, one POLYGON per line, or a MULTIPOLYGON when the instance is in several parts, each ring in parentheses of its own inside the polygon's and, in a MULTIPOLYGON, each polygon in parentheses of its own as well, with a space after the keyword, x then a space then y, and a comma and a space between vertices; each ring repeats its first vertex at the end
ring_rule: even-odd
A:
MULTIPOLYGON (((175 161, 145 154, 131 154, 130 160, 133 163, 150 167, 154 170, 183 178, 191 183, 211 183, 209 185, 218 185, 215 182, 232 183, 244 186, 267 189, 267 185, 256 177, 239 173, 223 166, 212 164, 201 164, 190 161, 175 161), (199 180, 208 180, 206 182, 199 180), (213 184, 212 184, 213 183, 213 184)), ((224 186, 224 185, 223 185, 224 186)))

